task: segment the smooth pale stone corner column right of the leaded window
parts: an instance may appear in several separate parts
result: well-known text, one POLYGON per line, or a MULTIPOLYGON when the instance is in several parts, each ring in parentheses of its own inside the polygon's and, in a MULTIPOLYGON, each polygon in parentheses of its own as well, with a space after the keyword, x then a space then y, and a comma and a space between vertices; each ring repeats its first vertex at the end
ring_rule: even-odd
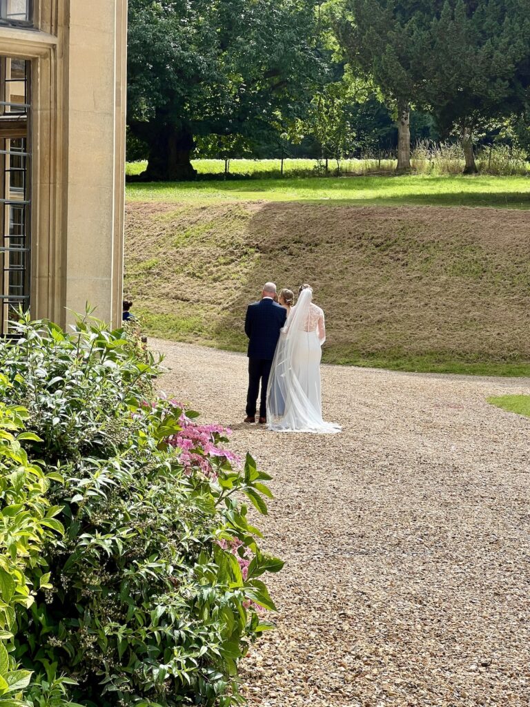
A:
POLYGON ((96 316, 117 325, 123 274, 125 0, 71 0, 64 37, 64 305, 83 311, 88 302, 97 307, 96 316))

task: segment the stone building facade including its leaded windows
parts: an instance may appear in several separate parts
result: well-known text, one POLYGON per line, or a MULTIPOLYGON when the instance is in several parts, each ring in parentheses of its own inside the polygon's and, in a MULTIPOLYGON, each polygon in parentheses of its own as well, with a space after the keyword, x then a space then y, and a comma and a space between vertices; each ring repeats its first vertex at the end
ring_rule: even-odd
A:
POLYGON ((126 0, 0 0, 0 334, 122 312, 126 0))

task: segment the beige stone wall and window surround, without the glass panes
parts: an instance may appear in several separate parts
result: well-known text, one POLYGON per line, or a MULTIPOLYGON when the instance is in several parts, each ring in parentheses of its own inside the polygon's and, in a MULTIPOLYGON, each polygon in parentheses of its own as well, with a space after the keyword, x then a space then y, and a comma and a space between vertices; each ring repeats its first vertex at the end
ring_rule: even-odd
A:
POLYGON ((126 0, 39 0, 35 30, 0 28, 33 59, 32 313, 122 312, 126 0))

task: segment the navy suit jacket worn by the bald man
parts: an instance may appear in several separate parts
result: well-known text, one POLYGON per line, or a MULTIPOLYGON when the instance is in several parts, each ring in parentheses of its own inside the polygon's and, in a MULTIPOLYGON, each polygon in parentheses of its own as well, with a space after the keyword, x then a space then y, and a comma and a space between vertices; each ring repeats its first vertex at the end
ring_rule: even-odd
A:
POLYGON ((272 361, 280 337, 280 329, 286 319, 285 307, 271 299, 263 299, 249 305, 245 318, 245 334, 249 337, 247 356, 272 361))

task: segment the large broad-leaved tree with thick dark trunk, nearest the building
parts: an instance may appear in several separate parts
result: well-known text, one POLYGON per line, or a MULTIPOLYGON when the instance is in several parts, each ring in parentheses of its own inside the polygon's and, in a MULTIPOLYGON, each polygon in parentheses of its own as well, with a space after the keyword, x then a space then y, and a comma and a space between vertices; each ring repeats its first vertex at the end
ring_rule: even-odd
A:
POLYGON ((129 129, 149 180, 189 179, 194 137, 302 114, 324 71, 312 0, 129 0, 129 129))

